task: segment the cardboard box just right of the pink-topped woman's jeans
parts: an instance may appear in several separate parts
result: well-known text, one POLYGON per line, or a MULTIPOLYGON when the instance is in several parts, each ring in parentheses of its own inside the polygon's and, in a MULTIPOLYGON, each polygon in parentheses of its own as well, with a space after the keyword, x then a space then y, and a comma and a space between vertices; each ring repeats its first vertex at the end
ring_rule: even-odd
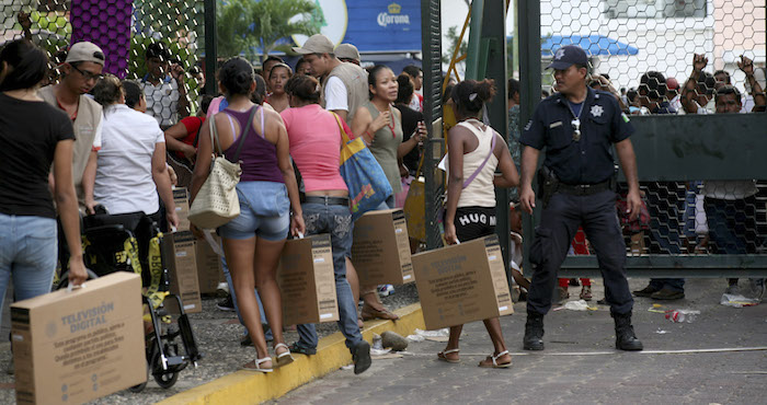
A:
POLYGON ((360 286, 414 281, 402 209, 366 212, 354 223, 352 263, 360 286))

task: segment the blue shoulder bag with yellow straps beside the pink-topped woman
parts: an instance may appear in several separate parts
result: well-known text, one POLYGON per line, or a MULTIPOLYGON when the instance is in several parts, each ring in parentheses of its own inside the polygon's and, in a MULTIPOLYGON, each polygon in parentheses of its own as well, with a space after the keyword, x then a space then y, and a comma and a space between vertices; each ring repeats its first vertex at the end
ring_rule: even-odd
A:
POLYGON ((341 118, 334 113, 331 114, 339 124, 343 140, 339 171, 348 187, 352 220, 356 221, 363 213, 378 208, 393 190, 384 169, 365 146, 363 138, 350 139, 341 118))

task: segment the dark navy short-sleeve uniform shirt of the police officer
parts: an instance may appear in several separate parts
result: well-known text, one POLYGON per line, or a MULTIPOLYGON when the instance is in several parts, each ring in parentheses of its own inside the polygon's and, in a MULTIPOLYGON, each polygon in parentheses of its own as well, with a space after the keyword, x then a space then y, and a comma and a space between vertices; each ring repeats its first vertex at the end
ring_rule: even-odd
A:
POLYGON ((525 126, 520 143, 546 148, 543 164, 565 184, 597 184, 614 173, 611 146, 634 131, 610 93, 587 88, 581 108, 581 138, 573 137, 575 116, 568 100, 554 94, 543 100, 525 126))

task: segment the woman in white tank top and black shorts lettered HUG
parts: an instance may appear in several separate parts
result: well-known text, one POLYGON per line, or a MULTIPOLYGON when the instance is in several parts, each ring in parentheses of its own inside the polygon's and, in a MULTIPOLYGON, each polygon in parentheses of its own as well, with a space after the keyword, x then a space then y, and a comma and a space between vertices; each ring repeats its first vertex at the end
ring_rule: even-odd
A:
MULTIPOLYGON (((447 134, 448 185, 445 210, 445 240, 448 244, 470 241, 495 233, 495 187, 516 187, 519 175, 504 138, 482 124, 482 106, 495 94, 492 80, 467 80, 453 89, 448 105, 458 124, 447 134), (501 175, 495 175, 495 169, 501 175)), ((479 367, 507 368, 512 356, 506 350, 497 317, 484 320, 493 355, 479 367)), ((450 327, 445 350, 439 360, 458 362, 458 338, 463 325, 450 327)))

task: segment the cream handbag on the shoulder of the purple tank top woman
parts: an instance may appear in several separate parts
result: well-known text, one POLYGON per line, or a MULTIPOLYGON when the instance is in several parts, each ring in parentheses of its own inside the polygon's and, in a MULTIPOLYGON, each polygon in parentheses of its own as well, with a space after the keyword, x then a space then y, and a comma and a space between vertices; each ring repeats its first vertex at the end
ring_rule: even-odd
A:
POLYGON ((248 124, 242 127, 240 143, 234 152, 234 162, 230 162, 224 155, 218 141, 216 119, 208 119, 210 126, 210 144, 214 149, 210 173, 190 207, 188 219, 199 229, 218 228, 240 215, 240 200, 237 197, 237 184, 240 183, 242 169, 240 167, 240 152, 245 143, 248 128, 253 124, 255 111, 261 109, 261 123, 264 121, 263 107, 255 106, 248 118, 248 124))

